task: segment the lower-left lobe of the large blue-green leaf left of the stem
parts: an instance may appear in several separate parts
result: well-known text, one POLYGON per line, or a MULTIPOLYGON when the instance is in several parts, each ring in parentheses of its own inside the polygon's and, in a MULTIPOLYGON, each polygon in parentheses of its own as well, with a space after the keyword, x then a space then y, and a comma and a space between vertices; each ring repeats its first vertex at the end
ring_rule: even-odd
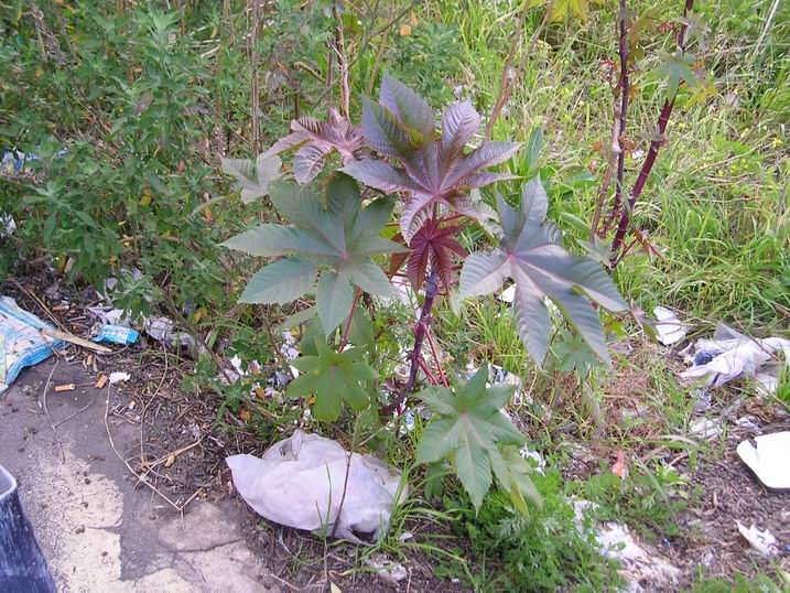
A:
POLYGON ((299 299, 313 285, 317 267, 295 257, 270 263, 250 279, 239 302, 284 304, 299 299))

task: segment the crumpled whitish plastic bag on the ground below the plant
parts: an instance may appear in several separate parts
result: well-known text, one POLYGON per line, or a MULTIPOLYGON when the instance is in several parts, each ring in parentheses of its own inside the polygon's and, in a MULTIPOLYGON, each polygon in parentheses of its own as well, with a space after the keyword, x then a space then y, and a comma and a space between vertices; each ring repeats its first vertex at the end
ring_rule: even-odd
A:
POLYGON ((408 494, 400 487, 400 472, 372 455, 354 453, 343 499, 348 452, 337 441, 301 430, 260 459, 232 455, 225 461, 236 489, 262 517, 296 529, 334 530, 355 543, 378 542, 393 505, 408 494))

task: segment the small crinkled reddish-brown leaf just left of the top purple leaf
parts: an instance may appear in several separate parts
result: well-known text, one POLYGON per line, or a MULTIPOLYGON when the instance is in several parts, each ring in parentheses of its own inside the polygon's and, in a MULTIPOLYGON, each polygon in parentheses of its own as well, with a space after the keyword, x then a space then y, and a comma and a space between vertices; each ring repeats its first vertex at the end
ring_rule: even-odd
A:
POLYGON ((294 119, 291 133, 278 140, 263 157, 273 157, 284 150, 296 148, 293 159, 293 176, 299 183, 315 179, 332 151, 337 151, 344 164, 361 155, 362 134, 350 121, 335 109, 329 109, 326 121, 311 117, 294 119))

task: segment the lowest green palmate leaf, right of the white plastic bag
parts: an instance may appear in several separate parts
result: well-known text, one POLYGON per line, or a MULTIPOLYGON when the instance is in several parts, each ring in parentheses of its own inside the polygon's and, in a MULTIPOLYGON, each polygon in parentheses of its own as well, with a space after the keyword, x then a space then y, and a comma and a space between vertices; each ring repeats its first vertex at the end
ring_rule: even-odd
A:
POLYGON ((522 502, 524 496, 535 499, 532 483, 523 477, 523 466, 515 463, 507 450, 508 445, 522 444, 524 438, 499 411, 513 387, 486 387, 487 380, 488 368, 481 368, 454 391, 431 387, 420 393, 434 418, 420 439, 418 462, 450 460, 475 508, 480 507, 491 487, 491 472, 502 488, 511 493, 515 489, 522 502))

